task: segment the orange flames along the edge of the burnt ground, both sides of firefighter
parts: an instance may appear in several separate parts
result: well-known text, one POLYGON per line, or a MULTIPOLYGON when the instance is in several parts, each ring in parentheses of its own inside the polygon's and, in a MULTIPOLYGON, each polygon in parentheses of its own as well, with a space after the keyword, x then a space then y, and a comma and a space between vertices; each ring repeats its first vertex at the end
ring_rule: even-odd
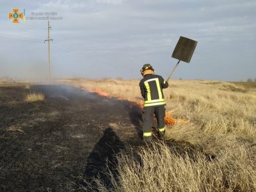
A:
MULTIPOLYGON (((117 98, 117 100, 122 100, 122 101, 129 101, 129 102, 135 103, 136 105, 138 105, 138 107, 143 108, 143 101, 133 101, 133 100, 126 100, 126 99, 120 98, 120 97, 114 97, 114 96, 111 96, 111 94, 109 94, 109 92, 105 92, 100 89, 87 89, 85 87, 83 87, 82 89, 85 89, 86 91, 89 91, 89 92, 93 92, 99 96, 104 96, 107 98, 117 98)), ((173 125, 173 124, 179 123, 179 122, 183 122, 183 123, 189 122, 189 120, 186 120, 186 119, 173 119, 170 111, 165 112, 164 121, 165 121, 165 124, 167 124, 167 125, 173 125)))

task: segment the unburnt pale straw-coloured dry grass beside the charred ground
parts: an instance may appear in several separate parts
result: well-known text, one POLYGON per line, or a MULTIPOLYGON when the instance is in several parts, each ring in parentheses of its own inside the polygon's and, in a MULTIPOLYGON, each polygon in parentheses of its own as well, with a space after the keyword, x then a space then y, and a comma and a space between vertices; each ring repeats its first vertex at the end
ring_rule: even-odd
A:
MULTIPOLYGON (((139 80, 61 80, 141 101, 139 80)), ((112 187, 99 191, 256 191, 256 84, 171 80, 166 111, 177 121, 166 142, 117 154, 112 187), (135 151, 135 152, 134 152, 135 151)), ((88 188, 86 188, 88 189, 88 188)), ((93 190, 94 188, 90 189, 93 190)))

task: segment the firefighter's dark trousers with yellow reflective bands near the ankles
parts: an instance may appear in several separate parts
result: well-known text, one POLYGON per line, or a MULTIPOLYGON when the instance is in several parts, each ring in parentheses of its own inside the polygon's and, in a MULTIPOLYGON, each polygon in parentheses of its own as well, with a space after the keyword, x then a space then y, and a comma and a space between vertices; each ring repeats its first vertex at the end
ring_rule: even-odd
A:
POLYGON ((152 124, 154 121, 154 114, 157 119, 157 131, 160 138, 164 137, 165 133, 165 108, 161 107, 144 107, 143 108, 143 138, 146 142, 152 140, 152 124))

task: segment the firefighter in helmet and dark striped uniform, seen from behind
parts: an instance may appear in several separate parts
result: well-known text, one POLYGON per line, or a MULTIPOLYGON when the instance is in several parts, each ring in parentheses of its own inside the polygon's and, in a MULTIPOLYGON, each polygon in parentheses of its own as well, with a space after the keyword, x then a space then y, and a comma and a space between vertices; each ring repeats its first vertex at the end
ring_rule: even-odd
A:
POLYGON ((143 139, 145 142, 152 140, 152 124, 154 114, 157 119, 157 131, 159 138, 165 133, 165 108, 163 89, 168 87, 168 82, 164 81, 160 75, 154 75, 154 69, 150 64, 144 64, 140 70, 143 78, 140 81, 141 96, 144 98, 143 104, 143 139))

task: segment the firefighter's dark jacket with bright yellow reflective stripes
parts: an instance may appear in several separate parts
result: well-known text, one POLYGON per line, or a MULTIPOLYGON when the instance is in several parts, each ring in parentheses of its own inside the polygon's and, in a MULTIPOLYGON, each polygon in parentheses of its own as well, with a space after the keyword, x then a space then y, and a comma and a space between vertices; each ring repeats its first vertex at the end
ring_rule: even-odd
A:
POLYGON ((144 98, 144 107, 160 107, 166 105, 163 89, 168 87, 160 75, 148 74, 140 81, 141 96, 144 98))

